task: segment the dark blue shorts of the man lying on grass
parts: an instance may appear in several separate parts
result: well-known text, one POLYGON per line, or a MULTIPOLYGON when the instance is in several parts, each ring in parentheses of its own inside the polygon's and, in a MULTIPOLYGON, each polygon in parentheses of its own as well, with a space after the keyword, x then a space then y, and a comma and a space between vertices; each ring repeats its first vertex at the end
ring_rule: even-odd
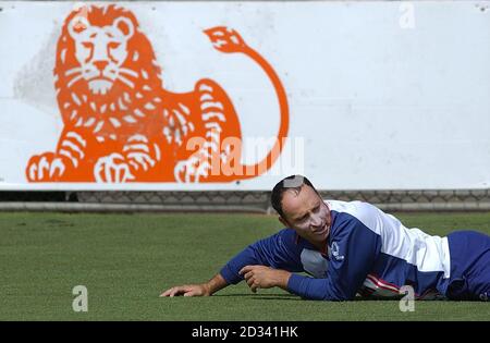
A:
POLYGON ((445 296, 456 301, 490 299, 490 236, 476 231, 448 235, 451 277, 445 296))

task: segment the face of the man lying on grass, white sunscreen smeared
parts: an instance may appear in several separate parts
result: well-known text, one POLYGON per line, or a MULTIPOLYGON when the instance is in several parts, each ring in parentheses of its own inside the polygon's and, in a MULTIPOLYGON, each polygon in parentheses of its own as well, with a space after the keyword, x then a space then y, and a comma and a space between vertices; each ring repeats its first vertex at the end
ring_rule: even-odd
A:
POLYGON ((310 243, 322 243, 330 233, 330 210, 321 197, 308 185, 299 193, 286 191, 282 197, 283 223, 310 243))

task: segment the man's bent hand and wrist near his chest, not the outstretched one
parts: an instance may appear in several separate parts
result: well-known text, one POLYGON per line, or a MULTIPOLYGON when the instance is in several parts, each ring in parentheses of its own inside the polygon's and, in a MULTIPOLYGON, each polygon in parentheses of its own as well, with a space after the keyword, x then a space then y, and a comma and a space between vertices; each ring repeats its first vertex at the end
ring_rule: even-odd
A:
POLYGON ((265 266, 245 266, 240 271, 244 275, 245 281, 252 292, 256 293, 257 289, 281 287, 287 289, 291 273, 281 269, 273 269, 265 266))

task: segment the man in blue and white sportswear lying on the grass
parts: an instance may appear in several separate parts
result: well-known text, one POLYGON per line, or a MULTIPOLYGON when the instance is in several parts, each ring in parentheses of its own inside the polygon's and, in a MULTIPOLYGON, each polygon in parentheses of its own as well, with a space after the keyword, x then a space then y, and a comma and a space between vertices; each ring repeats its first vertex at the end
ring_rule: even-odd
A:
POLYGON ((419 299, 490 297, 486 234, 431 236, 367 203, 322 200, 299 175, 279 182, 271 203, 289 229, 245 248, 209 282, 174 286, 161 296, 211 295, 245 279, 253 292, 279 286, 321 301, 400 297, 404 285, 419 299))

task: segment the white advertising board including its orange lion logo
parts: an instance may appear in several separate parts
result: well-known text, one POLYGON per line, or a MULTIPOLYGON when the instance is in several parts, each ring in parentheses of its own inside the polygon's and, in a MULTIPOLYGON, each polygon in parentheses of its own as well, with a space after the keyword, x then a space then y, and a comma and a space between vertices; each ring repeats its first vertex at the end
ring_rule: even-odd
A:
POLYGON ((0 189, 489 187, 487 1, 0 8, 0 189))

